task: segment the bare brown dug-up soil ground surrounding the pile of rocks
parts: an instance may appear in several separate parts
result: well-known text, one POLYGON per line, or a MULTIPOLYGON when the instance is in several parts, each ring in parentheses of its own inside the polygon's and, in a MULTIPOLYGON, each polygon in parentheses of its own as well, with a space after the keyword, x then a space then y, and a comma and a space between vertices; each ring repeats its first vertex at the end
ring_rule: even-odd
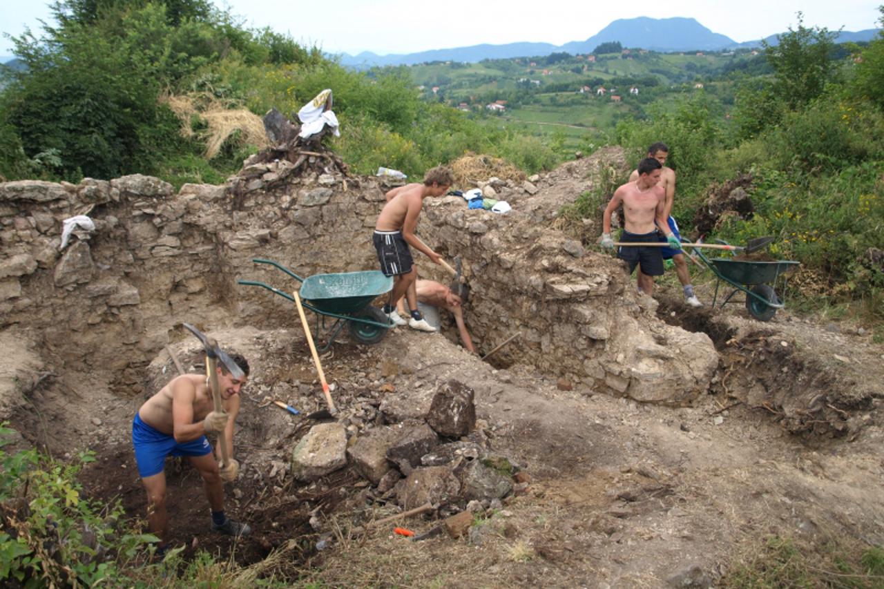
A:
MULTIPOLYGON (((544 180, 551 207, 579 193, 581 165, 544 180)), ((554 218, 547 212, 541 220, 554 218)), ((712 300, 708 287, 699 294, 712 300)), ((240 540, 209 532, 201 481, 171 461, 171 540, 187 555, 208 550, 244 566, 285 551, 273 572, 292 582, 446 587, 665 586, 694 565, 702 572, 695 585, 705 586, 770 534, 820 549, 833 538, 880 546, 884 348, 849 325, 820 325, 789 309, 762 324, 742 304, 693 310, 679 295, 661 290, 659 317, 707 333, 720 353, 713 387, 683 408, 561 382, 530 356, 483 362, 457 345, 450 325, 442 334, 399 328, 373 346, 341 336, 323 366, 347 425, 420 417, 436 386, 458 379, 475 389, 492 447, 530 475, 527 492, 478 516, 469 537, 423 542, 393 534, 392 524, 350 532, 395 512, 352 470, 307 486, 288 475, 291 449, 315 423, 305 414, 324 407, 301 330, 213 330, 252 364, 235 438, 242 470, 225 490, 228 512, 254 532, 240 540)), ((186 370, 202 370, 186 336, 171 348, 186 370)), ((174 373, 161 353, 144 367, 143 389, 174 373)), ((66 375, 64 384, 48 375, 31 386, 15 421, 53 455, 95 451, 82 475, 87 492, 119 499, 141 518, 146 498, 129 428, 143 394, 108 382, 95 372, 66 375)), ((436 523, 429 515, 397 524, 426 532, 436 523)))

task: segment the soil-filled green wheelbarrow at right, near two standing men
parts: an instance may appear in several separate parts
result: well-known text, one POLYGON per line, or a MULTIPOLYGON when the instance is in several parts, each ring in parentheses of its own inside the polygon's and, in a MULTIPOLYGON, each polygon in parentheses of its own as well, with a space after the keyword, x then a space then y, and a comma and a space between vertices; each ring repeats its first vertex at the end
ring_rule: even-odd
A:
POLYGON ((703 260, 703 263, 713 271, 717 278, 713 307, 718 300, 719 286, 724 281, 734 287, 734 290, 721 302, 720 307, 724 307, 732 296, 742 291, 746 294, 746 310, 758 321, 770 321, 776 315, 777 310, 785 307, 785 299, 781 299, 773 287, 777 280, 781 279, 782 292, 785 293, 787 273, 800 264, 795 260, 756 262, 754 260, 735 260, 731 257, 710 259, 704 256, 699 249, 695 249, 694 253, 703 260))

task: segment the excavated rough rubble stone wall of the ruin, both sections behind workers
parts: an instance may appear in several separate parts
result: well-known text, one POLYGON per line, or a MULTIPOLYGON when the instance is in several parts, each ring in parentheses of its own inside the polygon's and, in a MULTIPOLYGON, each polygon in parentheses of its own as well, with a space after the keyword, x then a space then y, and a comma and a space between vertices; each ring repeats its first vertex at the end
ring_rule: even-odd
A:
MULTIPOLYGON (((107 372, 137 394, 149 359, 187 337, 182 322, 300 325, 291 302, 236 279, 297 287, 254 257, 302 277, 375 269, 370 235, 388 187, 331 174, 280 180, 272 166, 177 194, 140 175, 0 184, 0 329, 51 370, 107 372), (59 250, 62 221, 76 214, 95 232, 75 232, 59 250)), ((424 241, 464 260, 469 326, 485 351, 521 330, 499 357, 641 401, 690 402, 705 391, 717 363, 711 341, 659 322, 618 262, 518 210, 469 211, 454 197, 425 207, 424 241)), ((444 279, 417 257, 425 275, 444 279)))

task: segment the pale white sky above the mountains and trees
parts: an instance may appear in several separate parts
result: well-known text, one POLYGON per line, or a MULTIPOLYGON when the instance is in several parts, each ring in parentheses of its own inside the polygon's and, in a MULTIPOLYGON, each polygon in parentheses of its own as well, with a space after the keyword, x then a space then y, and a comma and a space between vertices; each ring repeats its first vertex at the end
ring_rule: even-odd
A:
MULTIPOLYGON (((668 0, 658 3, 587 0, 508 0, 423 3, 420 0, 331 0, 329 4, 293 0, 212 0, 244 19, 248 27, 271 27, 296 41, 329 52, 378 55, 465 47, 479 43, 584 41, 615 19, 639 16, 692 17, 736 42, 782 33, 804 12, 805 27, 859 31, 878 27, 881 0, 668 0)), ((0 32, 18 35, 25 27, 40 31, 49 19, 46 0, 0 0, 0 32)), ((0 39, 0 56, 12 43, 0 39)))

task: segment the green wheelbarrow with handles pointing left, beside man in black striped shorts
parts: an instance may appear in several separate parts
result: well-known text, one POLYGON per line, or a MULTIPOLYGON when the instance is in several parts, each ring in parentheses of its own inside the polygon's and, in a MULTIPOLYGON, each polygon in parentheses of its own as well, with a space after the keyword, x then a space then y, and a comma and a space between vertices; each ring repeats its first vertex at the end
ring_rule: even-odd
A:
MULTIPOLYGON (((377 343, 384 339, 392 327, 384 312, 371 305, 378 296, 392 290, 392 277, 372 270, 364 272, 341 272, 339 274, 315 274, 306 279, 272 260, 254 258, 255 264, 270 264, 286 272, 301 283, 298 295, 303 306, 316 313, 316 334, 325 328, 325 317, 334 317, 335 322, 327 328, 328 341, 320 352, 331 348, 332 342, 347 325, 354 339, 364 344, 377 343), (322 325, 320 325, 322 320, 322 325)), ((262 287, 294 302, 294 297, 278 288, 256 280, 237 280, 237 284, 248 287, 262 287)))

